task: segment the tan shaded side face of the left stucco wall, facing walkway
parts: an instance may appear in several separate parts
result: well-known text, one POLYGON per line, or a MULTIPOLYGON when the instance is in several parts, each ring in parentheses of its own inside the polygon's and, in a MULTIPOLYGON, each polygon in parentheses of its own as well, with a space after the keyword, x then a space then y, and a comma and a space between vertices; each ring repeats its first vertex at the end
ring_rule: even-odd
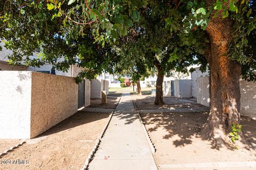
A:
POLYGON ((32 72, 30 137, 76 113, 77 95, 75 78, 32 72))

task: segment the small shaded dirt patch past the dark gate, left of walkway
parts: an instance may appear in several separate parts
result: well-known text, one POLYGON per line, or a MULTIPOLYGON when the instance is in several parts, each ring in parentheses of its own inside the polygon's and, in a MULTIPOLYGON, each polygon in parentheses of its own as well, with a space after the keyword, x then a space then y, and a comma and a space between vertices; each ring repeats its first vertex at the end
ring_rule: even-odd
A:
POLYGON ((108 97, 107 104, 101 104, 101 99, 91 99, 91 104, 88 107, 97 107, 97 108, 113 108, 115 109, 118 105, 120 97, 108 97))

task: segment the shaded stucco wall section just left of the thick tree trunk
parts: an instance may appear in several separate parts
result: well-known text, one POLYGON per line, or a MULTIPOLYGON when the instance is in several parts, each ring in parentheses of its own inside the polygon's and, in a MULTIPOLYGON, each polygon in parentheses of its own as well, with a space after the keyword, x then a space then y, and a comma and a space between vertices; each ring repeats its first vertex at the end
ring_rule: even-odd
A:
POLYGON ((197 103, 204 106, 210 106, 209 77, 198 77, 196 82, 197 103))

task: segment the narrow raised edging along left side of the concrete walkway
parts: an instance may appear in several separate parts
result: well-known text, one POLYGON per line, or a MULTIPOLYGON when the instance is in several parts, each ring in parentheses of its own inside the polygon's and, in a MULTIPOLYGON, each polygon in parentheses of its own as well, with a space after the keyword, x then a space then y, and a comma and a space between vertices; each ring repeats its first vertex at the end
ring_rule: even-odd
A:
MULTIPOLYGON (((121 95, 121 97, 122 97, 122 95, 121 95)), ((121 97, 119 98, 119 101, 120 101, 121 97)), ((119 104, 119 101, 118 101, 117 105, 119 104)), ((88 169, 89 163, 90 163, 91 160, 93 159, 93 156, 94 156, 95 152, 97 151, 97 148, 98 148, 99 145, 100 145, 101 139, 103 138, 103 136, 104 136, 104 134, 105 134, 105 132, 106 132, 106 130, 107 130, 107 128, 108 128, 108 125, 109 125, 109 123, 110 123, 110 121, 111 121, 111 118, 113 117, 115 111, 116 111, 116 108, 115 108, 114 111, 111 113, 111 115, 110 115, 110 117, 109 117, 109 120, 108 120, 108 123, 106 124, 106 126, 105 126, 105 128, 102 130, 102 132, 100 133, 99 138, 95 141, 95 145, 93 146, 92 151, 90 152, 90 154, 89 154, 88 157, 86 158, 85 163, 84 163, 83 167, 81 168, 81 170, 87 170, 87 169, 88 169)))

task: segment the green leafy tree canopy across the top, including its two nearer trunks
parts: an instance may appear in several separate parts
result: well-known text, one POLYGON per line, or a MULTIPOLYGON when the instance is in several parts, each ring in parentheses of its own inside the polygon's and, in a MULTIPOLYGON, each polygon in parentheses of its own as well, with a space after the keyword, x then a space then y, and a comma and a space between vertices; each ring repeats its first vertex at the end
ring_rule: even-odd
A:
POLYGON ((239 122, 239 76, 256 80, 255 14, 253 0, 9 0, 0 2, 0 38, 13 50, 12 64, 24 56, 28 65, 58 70, 77 64, 86 68, 81 78, 155 67, 156 104, 165 74, 207 65, 211 135, 239 122), (35 48, 42 57, 31 60, 35 48))

